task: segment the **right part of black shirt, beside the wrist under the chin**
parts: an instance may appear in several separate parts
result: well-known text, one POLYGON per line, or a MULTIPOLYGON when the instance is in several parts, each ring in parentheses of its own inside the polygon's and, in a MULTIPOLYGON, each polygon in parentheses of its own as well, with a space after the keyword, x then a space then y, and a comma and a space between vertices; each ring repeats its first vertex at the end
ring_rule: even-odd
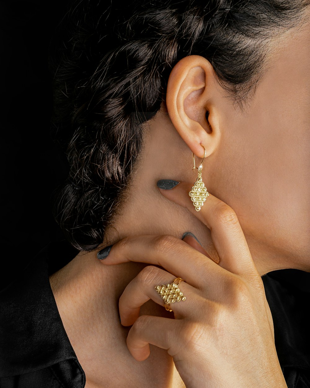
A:
POLYGON ((285 274, 286 271, 274 271, 262 277, 274 322, 277 355, 288 387, 309 388, 310 331, 307 310, 310 274, 298 273, 303 280, 300 282, 298 276, 292 282, 285 274))

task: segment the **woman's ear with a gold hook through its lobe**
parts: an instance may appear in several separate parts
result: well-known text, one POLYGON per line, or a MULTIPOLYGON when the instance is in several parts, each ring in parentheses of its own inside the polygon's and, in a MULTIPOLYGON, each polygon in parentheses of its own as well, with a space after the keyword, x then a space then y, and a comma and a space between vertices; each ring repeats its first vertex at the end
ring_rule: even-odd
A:
POLYGON ((199 158, 204 156, 203 147, 207 157, 219 144, 217 102, 223 96, 216 83, 212 65, 199 55, 189 55, 177 62, 168 80, 166 105, 169 117, 184 142, 199 158))

